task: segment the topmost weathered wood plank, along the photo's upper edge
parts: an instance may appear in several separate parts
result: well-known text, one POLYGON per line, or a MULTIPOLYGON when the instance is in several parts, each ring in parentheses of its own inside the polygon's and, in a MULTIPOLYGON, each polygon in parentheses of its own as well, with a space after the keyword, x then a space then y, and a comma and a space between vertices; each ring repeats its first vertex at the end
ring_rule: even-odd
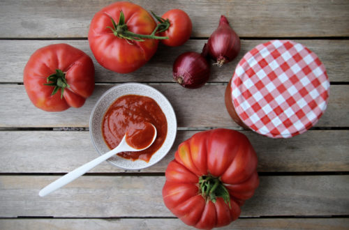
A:
MULTIPOLYGON (((1 1, 2 38, 86 37, 93 15, 113 1, 1 1)), ((326 1, 134 0, 158 15, 181 8, 194 37, 208 37, 225 15, 239 36, 349 36, 349 3, 326 1), (165 7, 164 7, 165 6, 165 7)))

